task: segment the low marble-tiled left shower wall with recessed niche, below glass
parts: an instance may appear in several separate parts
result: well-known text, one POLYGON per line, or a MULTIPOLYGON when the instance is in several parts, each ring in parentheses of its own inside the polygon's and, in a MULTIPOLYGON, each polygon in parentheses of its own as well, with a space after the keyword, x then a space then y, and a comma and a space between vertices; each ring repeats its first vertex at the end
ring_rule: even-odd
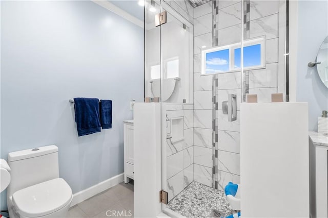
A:
MULTIPOLYGON (((165 104, 165 103, 163 103, 165 104)), ((165 104, 167 118, 183 118, 183 139, 166 139, 167 191, 170 201, 194 181, 193 104, 165 104)), ((167 123, 167 133, 170 131, 167 123)))

